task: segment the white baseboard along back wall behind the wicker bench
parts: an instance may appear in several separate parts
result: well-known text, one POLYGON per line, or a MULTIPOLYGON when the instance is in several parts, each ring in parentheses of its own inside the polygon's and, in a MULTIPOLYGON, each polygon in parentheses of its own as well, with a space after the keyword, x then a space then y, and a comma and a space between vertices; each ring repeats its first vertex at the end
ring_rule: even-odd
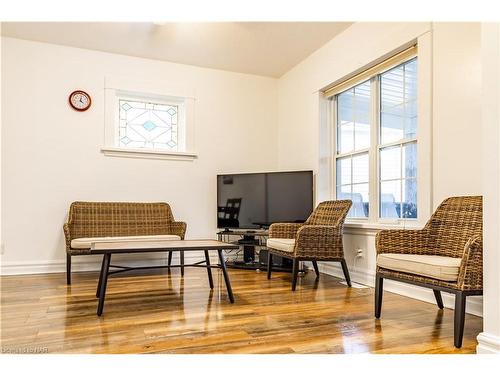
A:
MULTIPOLYGON (((165 254, 115 254, 112 257, 112 264, 129 267, 147 267, 166 265, 168 256, 165 254)), ((184 257, 185 263, 204 260, 203 254, 187 253, 184 257)), ((102 256, 99 255, 75 255, 71 258, 71 272, 92 272, 101 269, 102 256)), ((218 262, 217 256, 210 255, 211 262, 218 262)), ((179 264, 179 254, 174 253, 172 264, 179 264)), ((66 272, 66 260, 54 260, 44 262, 2 262, 0 275, 26 275, 39 273, 60 273, 66 272)))

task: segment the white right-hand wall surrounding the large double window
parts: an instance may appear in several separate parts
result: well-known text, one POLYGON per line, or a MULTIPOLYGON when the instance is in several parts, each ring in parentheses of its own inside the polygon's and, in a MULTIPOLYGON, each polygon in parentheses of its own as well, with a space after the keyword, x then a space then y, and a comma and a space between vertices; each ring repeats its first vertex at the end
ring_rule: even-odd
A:
MULTIPOLYGON (((279 168, 318 171, 318 90, 429 35, 433 71, 428 83, 433 98, 432 209, 447 196, 482 194, 480 32, 477 23, 356 23, 346 29, 279 81, 279 168)), ((325 198, 320 191, 317 195, 325 198)), ((353 279, 372 285, 376 231, 348 228, 346 232, 346 258, 353 279), (358 248, 364 250, 364 256, 355 259, 358 248)), ((341 275, 337 267, 322 268, 341 275)), ((386 289, 434 302, 430 290, 386 284, 386 289)), ((452 307, 453 298, 443 297, 452 307)), ((469 300, 469 311, 481 314, 481 297, 469 300)))

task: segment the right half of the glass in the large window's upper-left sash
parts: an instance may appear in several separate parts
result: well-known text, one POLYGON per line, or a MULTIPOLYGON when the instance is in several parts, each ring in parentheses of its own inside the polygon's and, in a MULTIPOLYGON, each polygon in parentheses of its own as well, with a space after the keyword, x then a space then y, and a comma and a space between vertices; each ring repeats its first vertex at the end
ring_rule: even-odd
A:
POLYGON ((354 149, 362 150, 370 147, 370 81, 354 88, 354 149))

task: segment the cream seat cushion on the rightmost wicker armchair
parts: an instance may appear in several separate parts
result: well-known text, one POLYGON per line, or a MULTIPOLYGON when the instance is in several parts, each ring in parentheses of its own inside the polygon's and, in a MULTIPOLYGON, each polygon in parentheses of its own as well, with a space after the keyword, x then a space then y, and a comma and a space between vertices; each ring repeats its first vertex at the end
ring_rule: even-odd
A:
POLYGON ((443 281, 457 281, 461 258, 438 255, 386 253, 377 256, 377 266, 443 281))

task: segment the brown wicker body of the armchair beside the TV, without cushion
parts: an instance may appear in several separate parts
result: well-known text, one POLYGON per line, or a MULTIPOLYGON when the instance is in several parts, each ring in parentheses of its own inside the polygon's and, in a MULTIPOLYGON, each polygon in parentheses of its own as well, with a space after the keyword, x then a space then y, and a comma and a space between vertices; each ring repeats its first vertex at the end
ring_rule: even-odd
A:
POLYGON ((272 253, 301 260, 339 260, 344 257, 342 231, 351 208, 350 200, 321 202, 304 224, 275 223, 269 238, 294 238, 293 253, 270 249, 272 253))

